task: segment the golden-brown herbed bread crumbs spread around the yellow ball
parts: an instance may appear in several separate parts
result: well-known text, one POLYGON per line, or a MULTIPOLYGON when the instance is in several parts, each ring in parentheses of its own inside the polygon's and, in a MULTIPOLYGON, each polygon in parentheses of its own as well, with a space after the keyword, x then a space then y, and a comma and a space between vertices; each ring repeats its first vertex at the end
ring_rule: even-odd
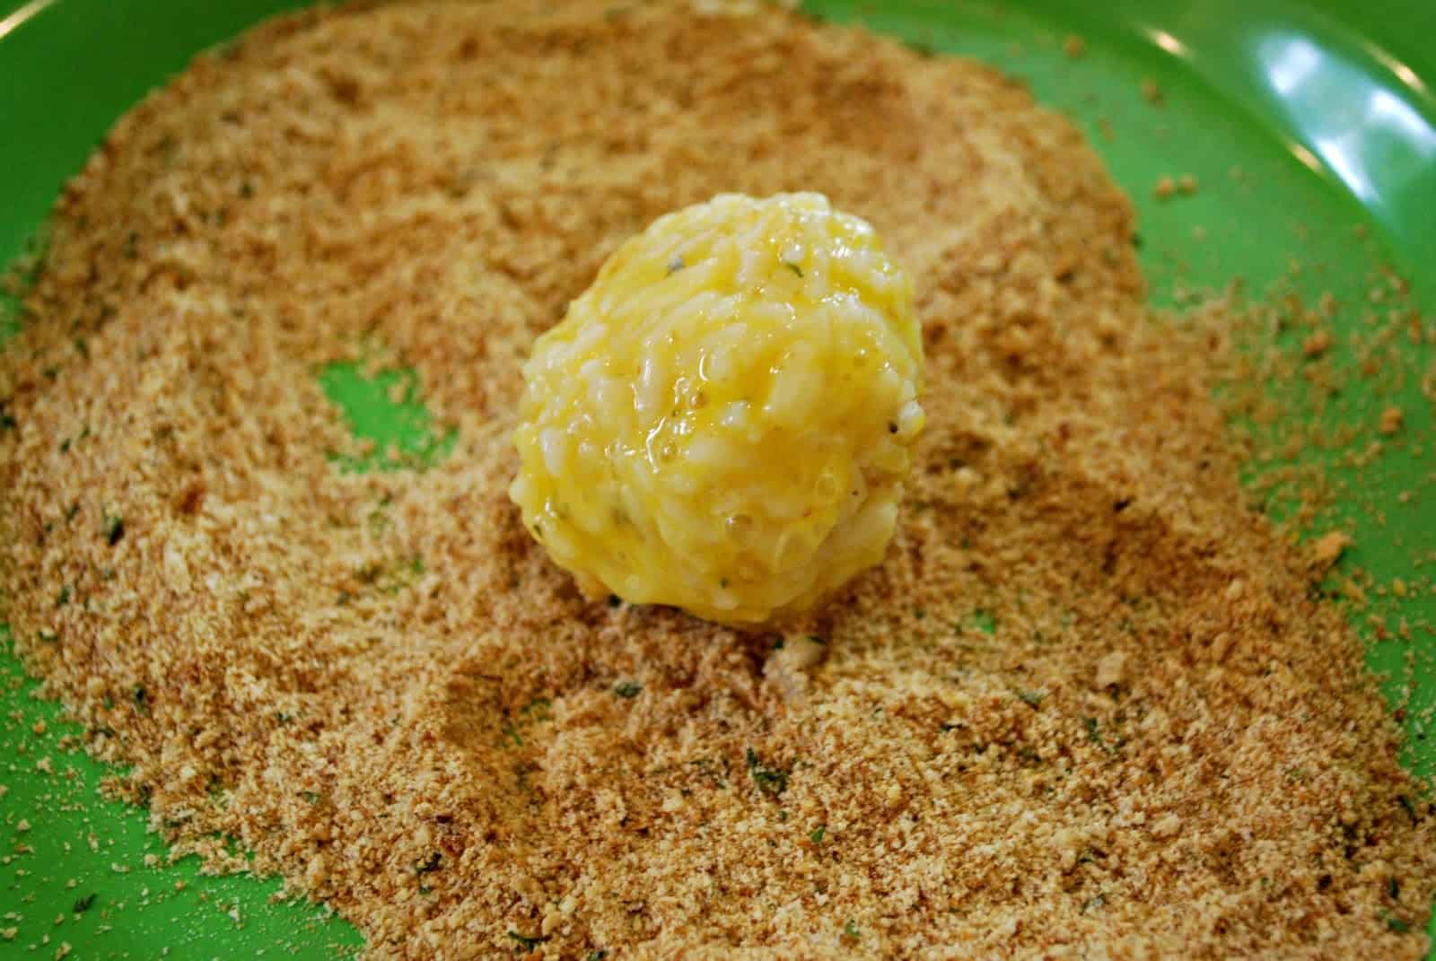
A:
POLYGON ((1430 803, 1246 506, 1222 325, 1143 297, 1080 134, 971 62, 777 10, 283 17, 59 201, 0 618, 177 853, 373 957, 1423 957, 1430 803), (584 602, 504 493, 518 361, 659 214, 793 190, 918 280, 886 563, 784 633, 584 602), (345 359, 415 368, 452 454, 342 470, 345 359))

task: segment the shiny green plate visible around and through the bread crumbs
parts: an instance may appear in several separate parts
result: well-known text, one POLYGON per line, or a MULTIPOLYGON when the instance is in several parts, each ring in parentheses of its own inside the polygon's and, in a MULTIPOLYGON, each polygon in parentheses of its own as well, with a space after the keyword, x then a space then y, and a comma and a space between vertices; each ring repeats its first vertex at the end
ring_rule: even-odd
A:
MULTIPOLYGON (((0 0, 0 263, 24 250, 65 178, 125 108, 195 50, 290 6, 0 0)), ((823 0, 810 9, 988 60, 1070 113, 1137 203, 1143 266, 1157 302, 1180 303, 1185 290, 1241 276, 1256 293, 1277 283, 1313 297, 1331 290, 1341 305, 1338 326, 1356 329, 1373 271, 1390 266, 1413 280, 1430 312, 1436 3, 1163 6, 823 0), (1080 56, 1064 50, 1070 36, 1083 37, 1080 56), (1159 105, 1143 96, 1144 79, 1160 88, 1159 105), (1157 200, 1157 180, 1180 174, 1196 177, 1198 191, 1157 200), (1307 266, 1301 276, 1292 276, 1294 261, 1307 266)), ((1429 339, 1403 349, 1413 371, 1433 369, 1429 339)), ((416 399, 388 409, 388 382, 365 382, 352 369, 322 378, 356 432, 424 454, 415 440, 426 435, 416 399)), ((1407 411, 1407 442, 1393 445, 1379 471, 1361 474, 1361 494, 1390 511, 1357 510, 1353 497, 1328 519, 1354 533, 1348 562, 1377 583, 1409 577, 1413 549, 1436 540, 1436 498, 1396 500, 1397 491, 1430 486, 1433 418, 1419 379, 1361 381, 1354 396, 1323 414, 1338 422, 1363 421, 1393 402, 1407 411)), ((1436 704, 1436 669, 1407 654, 1432 645, 1436 595, 1427 589, 1393 616, 1416 626, 1414 641, 1373 636, 1370 659, 1389 674, 1393 704, 1406 708, 1409 758, 1425 774, 1436 770, 1436 748, 1419 717, 1436 704)), ((359 935, 325 909, 271 904, 274 881, 204 878, 194 863, 164 866, 164 845, 146 832, 145 812, 98 794, 101 779, 115 771, 62 743, 76 728, 33 697, 34 682, 9 644, 0 646, 0 783, 9 789, 0 797, 0 932, 16 928, 13 939, 0 939, 0 957, 50 958, 62 944, 72 945, 72 958, 152 958, 162 948, 171 958, 355 951, 359 935), (43 733, 36 733, 39 721, 43 733), (36 769, 45 757, 53 773, 36 769), (22 820, 29 830, 20 830, 22 820), (146 855, 155 856, 148 866, 146 855)))

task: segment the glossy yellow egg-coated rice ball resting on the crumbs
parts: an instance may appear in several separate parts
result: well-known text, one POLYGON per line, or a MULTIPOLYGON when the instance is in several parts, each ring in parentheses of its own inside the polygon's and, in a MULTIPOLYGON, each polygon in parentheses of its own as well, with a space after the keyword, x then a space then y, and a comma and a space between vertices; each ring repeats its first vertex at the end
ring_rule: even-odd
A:
POLYGON ((923 424, 912 280, 821 194, 661 217, 524 379, 510 497, 553 560, 732 625, 882 560, 923 424))

